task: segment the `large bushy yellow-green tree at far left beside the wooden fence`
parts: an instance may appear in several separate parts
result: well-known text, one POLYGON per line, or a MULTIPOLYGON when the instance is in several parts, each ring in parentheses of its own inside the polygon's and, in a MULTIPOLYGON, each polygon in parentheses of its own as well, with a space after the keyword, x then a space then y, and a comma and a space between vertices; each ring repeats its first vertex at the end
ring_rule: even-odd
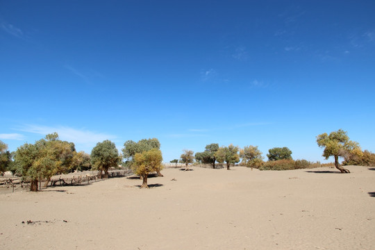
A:
POLYGON ((74 144, 58 140, 57 133, 46 135, 35 144, 26 143, 15 152, 17 173, 30 178, 30 190, 38 191, 38 181, 69 172, 74 150, 74 144))

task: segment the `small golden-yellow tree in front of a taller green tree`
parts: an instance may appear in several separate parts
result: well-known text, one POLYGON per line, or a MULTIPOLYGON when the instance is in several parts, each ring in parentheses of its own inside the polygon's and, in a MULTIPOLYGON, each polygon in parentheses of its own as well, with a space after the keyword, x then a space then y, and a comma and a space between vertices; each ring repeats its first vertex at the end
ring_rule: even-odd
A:
POLYGON ((151 149, 142 153, 135 153, 134 162, 131 165, 133 172, 142 177, 141 188, 149 188, 147 177, 151 172, 160 172, 163 169, 163 156, 160 149, 151 149))

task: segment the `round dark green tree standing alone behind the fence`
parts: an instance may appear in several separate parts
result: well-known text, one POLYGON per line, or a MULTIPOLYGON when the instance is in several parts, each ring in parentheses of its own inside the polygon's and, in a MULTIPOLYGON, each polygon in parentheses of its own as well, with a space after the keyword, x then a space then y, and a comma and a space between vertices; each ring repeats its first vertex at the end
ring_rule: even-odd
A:
POLYGON ((91 151, 92 169, 98 170, 101 178, 108 178, 108 169, 118 167, 120 162, 119 151, 116 149, 115 143, 110 140, 98 142, 91 151))

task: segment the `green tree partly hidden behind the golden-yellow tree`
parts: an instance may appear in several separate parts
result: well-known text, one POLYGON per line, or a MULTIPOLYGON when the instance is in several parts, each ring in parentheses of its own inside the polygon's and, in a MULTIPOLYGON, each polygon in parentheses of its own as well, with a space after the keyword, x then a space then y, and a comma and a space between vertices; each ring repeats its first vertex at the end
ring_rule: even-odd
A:
MULTIPOLYGON (((145 151, 150 151, 151 149, 160 149, 160 142, 158 139, 142 139, 138 142, 134 142, 133 140, 126 141, 124 143, 124 148, 122 149, 122 156, 125 159, 125 165, 131 167, 134 163, 135 153, 143 153, 145 151)), ((158 174, 158 176, 163 176, 160 171, 156 174, 158 174)))

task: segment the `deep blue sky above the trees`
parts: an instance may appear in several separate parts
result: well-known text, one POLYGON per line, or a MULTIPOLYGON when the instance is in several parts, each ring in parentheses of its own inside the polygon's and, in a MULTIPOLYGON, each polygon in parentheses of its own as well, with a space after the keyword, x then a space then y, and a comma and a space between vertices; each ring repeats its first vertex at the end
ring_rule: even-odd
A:
MULTIPOLYGON (((0 140, 375 152, 375 1, 1 1, 0 140)), ((330 160, 332 161, 332 159, 330 160)))

